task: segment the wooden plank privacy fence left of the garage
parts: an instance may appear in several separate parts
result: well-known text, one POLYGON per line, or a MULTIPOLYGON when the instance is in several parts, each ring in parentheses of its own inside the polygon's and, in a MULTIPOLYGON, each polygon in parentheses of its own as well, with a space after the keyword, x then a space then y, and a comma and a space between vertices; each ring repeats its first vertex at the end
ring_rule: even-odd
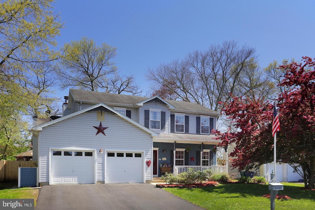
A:
POLYGON ((18 182, 19 167, 37 167, 37 161, 0 161, 0 183, 18 182))

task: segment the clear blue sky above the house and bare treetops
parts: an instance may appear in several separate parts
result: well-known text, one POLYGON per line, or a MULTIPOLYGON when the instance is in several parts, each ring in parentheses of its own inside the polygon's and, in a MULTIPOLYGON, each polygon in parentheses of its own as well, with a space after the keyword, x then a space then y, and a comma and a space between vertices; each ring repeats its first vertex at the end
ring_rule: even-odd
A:
MULTIPOLYGON (((145 91, 148 68, 229 40, 255 47, 261 67, 273 60, 315 58, 312 0, 57 0, 53 6, 65 22, 58 48, 82 36, 115 46, 121 74, 134 74, 145 91)), ((68 89, 56 93, 61 98, 68 89)))

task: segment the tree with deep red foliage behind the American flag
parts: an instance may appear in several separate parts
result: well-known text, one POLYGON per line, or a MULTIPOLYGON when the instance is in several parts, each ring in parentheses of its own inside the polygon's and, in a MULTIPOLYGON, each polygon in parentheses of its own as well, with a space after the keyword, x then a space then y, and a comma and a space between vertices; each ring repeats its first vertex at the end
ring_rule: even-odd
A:
MULTIPOLYGON (((290 87, 279 94, 277 162, 298 163, 303 170, 305 187, 314 188, 315 181, 315 61, 303 57, 303 63, 279 66, 286 69, 279 84, 290 87), (307 183, 308 179, 308 183, 307 183)), ((223 114, 232 120, 232 131, 215 131, 221 146, 235 143, 230 156, 232 167, 257 168, 273 161, 272 101, 263 98, 237 98, 226 103, 223 114)))

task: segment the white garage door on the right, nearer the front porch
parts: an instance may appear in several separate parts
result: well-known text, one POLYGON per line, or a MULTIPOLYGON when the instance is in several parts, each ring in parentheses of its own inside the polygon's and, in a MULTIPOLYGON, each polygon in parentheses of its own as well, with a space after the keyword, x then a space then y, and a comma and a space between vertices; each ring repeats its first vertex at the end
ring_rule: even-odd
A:
POLYGON ((106 183, 143 183, 143 153, 107 152, 106 183))

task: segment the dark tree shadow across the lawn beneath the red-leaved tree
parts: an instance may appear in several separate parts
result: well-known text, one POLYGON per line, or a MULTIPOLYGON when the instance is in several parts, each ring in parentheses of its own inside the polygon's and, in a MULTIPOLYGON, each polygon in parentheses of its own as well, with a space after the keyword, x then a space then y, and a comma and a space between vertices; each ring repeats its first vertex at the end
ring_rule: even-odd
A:
MULTIPOLYGON (((301 186, 302 187, 302 186, 301 186)), ((286 195, 292 199, 310 199, 315 201, 315 190, 305 190, 301 189, 300 186, 287 186, 284 185, 284 190, 279 191, 279 195, 286 195)), ((187 190, 192 190, 186 188, 187 190)), ((248 197, 257 196, 261 197, 266 194, 270 194, 268 190, 268 184, 220 184, 217 187, 204 187, 199 188, 201 191, 209 193, 227 193, 234 194, 231 196, 226 196, 227 198, 237 198, 237 197, 248 197), (237 194, 237 195, 235 195, 237 194)))

